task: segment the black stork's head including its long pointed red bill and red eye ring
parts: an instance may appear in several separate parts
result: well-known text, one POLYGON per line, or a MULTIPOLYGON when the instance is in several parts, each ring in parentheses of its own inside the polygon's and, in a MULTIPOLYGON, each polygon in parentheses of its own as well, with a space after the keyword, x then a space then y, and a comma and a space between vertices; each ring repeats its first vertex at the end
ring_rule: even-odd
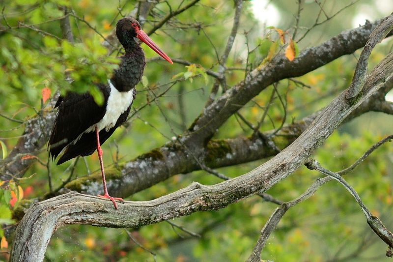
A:
POLYGON ((148 45, 162 58, 167 60, 169 63, 173 63, 172 60, 164 53, 154 42, 147 36, 147 34, 140 29, 140 24, 137 20, 132 17, 125 17, 117 21, 116 24, 116 36, 119 42, 123 45, 126 52, 132 52, 134 48, 137 48, 137 43, 134 37, 139 38, 143 43, 148 45))

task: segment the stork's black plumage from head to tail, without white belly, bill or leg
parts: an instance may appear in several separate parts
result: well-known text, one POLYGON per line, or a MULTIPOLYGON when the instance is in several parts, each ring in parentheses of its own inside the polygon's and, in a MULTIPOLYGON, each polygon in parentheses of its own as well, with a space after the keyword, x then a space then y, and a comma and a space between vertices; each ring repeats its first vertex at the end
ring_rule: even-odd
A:
MULTIPOLYGON (((126 51, 126 54, 121 57, 119 68, 114 70, 111 78, 113 86, 120 92, 129 91, 140 82, 146 64, 140 45, 134 40, 136 32, 132 27, 133 22, 137 23, 140 28, 139 23, 132 18, 121 19, 116 25, 116 36, 126 51)), ((85 130, 98 123, 106 113, 111 88, 108 83, 97 84, 97 86, 104 95, 102 106, 97 105, 88 92, 83 94, 68 92, 65 97, 60 96, 57 100, 55 107, 58 107, 58 113, 49 139, 50 154, 53 158, 56 158, 64 150, 57 165, 78 155, 87 156, 95 151, 94 132, 89 132, 92 135, 83 134, 76 144, 73 143, 85 130)), ((130 107, 131 105, 132 103, 130 107)), ((126 110, 126 112, 129 111, 130 108, 126 110)), ((127 116, 128 113, 125 117, 119 117, 116 125, 108 132, 105 129, 99 130, 101 145, 125 121, 127 116)))

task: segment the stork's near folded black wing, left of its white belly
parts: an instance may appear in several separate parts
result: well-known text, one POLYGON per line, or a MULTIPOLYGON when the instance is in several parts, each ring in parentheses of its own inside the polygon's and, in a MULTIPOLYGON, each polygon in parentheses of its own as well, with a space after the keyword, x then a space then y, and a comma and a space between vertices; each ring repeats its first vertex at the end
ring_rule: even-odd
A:
POLYGON ((58 98, 55 106, 58 107, 58 112, 49 139, 52 158, 56 158, 64 147, 104 117, 111 88, 109 85, 97 86, 104 94, 105 101, 102 106, 98 106, 88 92, 68 92, 64 97, 58 98))

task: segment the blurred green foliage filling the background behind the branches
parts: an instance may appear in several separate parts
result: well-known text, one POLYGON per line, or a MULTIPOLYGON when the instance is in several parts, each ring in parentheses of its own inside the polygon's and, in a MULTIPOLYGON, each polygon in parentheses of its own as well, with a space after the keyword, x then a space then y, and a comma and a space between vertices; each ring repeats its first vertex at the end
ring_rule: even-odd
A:
MULTIPOLYGON (((188 2, 184 1, 183 5, 188 2)), ((294 8, 296 1, 271 1, 271 4, 280 11, 281 22, 279 25, 267 28, 259 25, 254 18, 251 10, 252 2, 243 1, 244 8, 238 35, 226 63, 225 76, 228 88, 244 79, 244 68, 253 70, 260 65, 268 67, 268 62, 274 56, 283 53, 294 32, 296 14, 293 10, 297 9, 294 8)), ((304 15, 301 16, 298 28, 302 33, 306 31, 305 28, 312 26, 320 10, 314 1, 303 2, 304 15)), ((330 10, 329 8, 336 10, 343 4, 339 1, 332 2, 325 2, 325 10, 330 10)), ((169 13, 167 3, 172 8, 179 4, 175 0, 158 3, 152 11, 156 16, 147 17, 148 23, 143 28, 145 31, 149 31, 153 22, 161 20, 169 13)), ((376 9, 373 1, 365 1, 365 4, 367 3, 376 9)), ((108 37, 116 19, 120 17, 118 10, 122 10, 122 14, 127 14, 138 4, 138 1, 123 0, 119 3, 104 0, 4 1, 6 20, 2 19, 0 27, 0 97, 3 98, 0 103, 0 113, 25 121, 36 116, 40 108, 49 110, 53 105, 50 102, 41 105, 40 101, 41 90, 44 87, 49 87, 52 94, 57 90, 62 94, 68 90, 89 91, 98 103, 102 102, 102 95, 94 83, 106 83, 117 66, 116 57, 121 54, 116 50, 108 54, 107 49, 102 45, 102 37, 92 28, 104 37, 108 37), (56 18, 64 15, 59 8, 60 5, 72 8, 73 14, 89 24, 88 26, 70 17, 74 44, 59 40, 62 36, 56 18), (18 27, 18 21, 23 21, 24 25, 34 25, 34 29, 24 27, 22 24, 18 27), (12 29, 7 29, 7 24, 12 29), (35 29, 50 32, 51 35, 35 29), (73 80, 72 84, 66 81, 67 77, 73 80)), ((352 9, 345 9, 325 24, 328 26, 314 28, 300 42, 298 40, 302 34, 298 33, 293 39, 295 57, 299 49, 302 51, 344 29, 351 28, 350 22, 353 14, 357 13, 357 8, 360 8, 359 5, 355 5, 352 9)), ((216 72, 219 68, 217 58, 220 58, 224 52, 233 13, 233 5, 226 1, 201 0, 192 9, 171 19, 170 23, 151 35, 169 57, 184 59, 191 64, 184 66, 176 63, 173 65, 162 62, 147 63, 141 83, 137 86, 138 95, 131 110, 132 117, 103 145, 104 163, 108 167, 108 174, 111 174, 112 167, 115 169, 117 165, 121 166, 172 140, 172 137, 181 134, 201 113, 209 98, 212 83, 215 81, 206 72, 207 70, 216 72)), ((386 45, 378 46, 370 58, 370 67, 378 63, 383 55, 389 52, 391 46, 391 41, 386 45)), ((144 44, 142 47, 147 59, 157 56, 144 44)), ((305 85, 291 80, 281 81, 276 87, 277 92, 274 93, 273 102, 270 102, 273 87, 268 87, 238 112, 249 122, 257 124, 267 111, 267 116, 259 128, 262 132, 276 130, 282 121, 285 124, 299 121, 302 117, 325 107, 337 94, 348 87, 359 54, 360 51, 354 56, 339 58, 296 79, 305 85), (279 96, 283 102, 280 101, 279 96), (284 112, 286 112, 285 119, 283 119, 284 112)), ((223 92, 220 87, 217 96, 223 92)), ((387 117, 389 116, 372 113, 343 124, 313 157, 332 171, 348 167, 372 144, 391 134, 392 121, 387 117)), ((23 135, 24 129, 25 124, 0 116, 2 158, 9 155, 18 137, 23 135)), ((231 116, 220 127, 214 138, 227 139, 252 134, 253 130, 238 116, 231 116)), ((277 137, 275 142, 281 146, 287 141, 286 138, 285 135, 277 137)), ((223 153, 220 151, 221 146, 225 146, 225 143, 208 144, 208 146, 213 153, 220 155, 223 153)), ((157 151, 152 153, 157 154, 157 151)), ((28 170, 25 175, 28 178, 18 181, 18 185, 24 190, 26 200, 41 197, 49 192, 45 165, 48 161, 47 152, 41 152, 37 157, 40 162, 28 170), (33 174, 35 175, 29 177, 33 174), (27 194, 29 187, 32 187, 30 188, 32 192, 27 194)), ((392 159, 392 146, 388 143, 381 146, 355 171, 345 177, 372 212, 380 215, 384 223, 386 222, 388 228, 393 227, 389 216, 393 210, 392 159)), ((86 157, 85 160, 91 171, 99 169, 95 154, 86 157)), ((218 171, 229 177, 236 177, 265 161, 266 159, 258 160, 218 171)), ((68 178, 72 169, 71 163, 70 161, 68 165, 50 165, 54 188, 68 178)), ((74 174, 78 177, 87 174, 84 161, 79 160, 74 174)), ((98 173, 94 174, 94 178, 98 181, 100 176, 98 173)), ((290 201, 302 194, 320 176, 303 167, 276 184, 267 193, 282 201, 290 201)), ((133 201, 155 199, 186 187, 192 181, 209 185, 222 180, 202 171, 175 175, 165 182, 135 193, 129 199, 133 201)), ((18 185, 11 182, 5 188, 0 187, 0 223, 3 225, 14 223, 15 219, 11 217, 12 210, 23 207, 19 202, 21 190, 18 185), (12 191, 17 200, 14 207, 10 204, 12 191)), ((80 188, 80 185, 75 185, 75 188, 80 188)), ((218 211, 198 212, 171 221, 189 231, 199 233, 200 238, 192 237, 167 222, 129 231, 143 247, 156 253, 156 259, 160 262, 245 261, 259 237, 261 228, 276 207, 275 204, 263 202, 260 197, 253 196, 218 211)), ((376 252, 381 254, 381 250, 386 248, 385 244, 377 240, 367 227, 363 214, 352 196, 336 182, 329 182, 310 199, 288 210, 276 231, 268 239, 262 258, 289 262, 338 260, 356 251, 364 239, 372 244, 363 248, 361 255, 371 257, 376 252)), ((3 231, 0 230, 0 236, 2 235, 3 231)), ((0 254, 1 259, 3 259, 2 254, 0 254)), ((357 259, 355 257, 353 260, 357 259)), ((52 237, 47 249, 46 261, 72 260, 153 261, 153 256, 135 244, 123 229, 69 226, 59 229, 52 237)))

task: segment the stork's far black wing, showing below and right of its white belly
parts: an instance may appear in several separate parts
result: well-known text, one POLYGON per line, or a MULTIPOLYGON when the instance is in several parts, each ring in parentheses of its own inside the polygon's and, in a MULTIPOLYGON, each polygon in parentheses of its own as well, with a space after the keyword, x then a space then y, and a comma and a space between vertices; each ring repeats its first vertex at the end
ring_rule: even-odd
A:
MULTIPOLYGON (((131 103, 132 105, 132 103, 131 103)), ((125 120, 127 120, 127 116, 130 113, 131 105, 128 107, 128 109, 119 116, 119 118, 116 121, 116 124, 106 131, 104 128, 99 132, 100 135, 100 145, 104 144, 104 142, 112 135, 114 130, 124 123, 125 120)), ((78 155, 81 156, 86 156, 86 155, 91 155, 95 149, 97 148, 97 139, 95 137, 95 132, 89 132, 89 133, 84 133, 82 137, 75 143, 71 143, 70 145, 67 146, 65 149, 64 153, 62 156, 59 158, 57 161, 56 165, 60 165, 64 163, 65 161, 68 161, 78 155)))

